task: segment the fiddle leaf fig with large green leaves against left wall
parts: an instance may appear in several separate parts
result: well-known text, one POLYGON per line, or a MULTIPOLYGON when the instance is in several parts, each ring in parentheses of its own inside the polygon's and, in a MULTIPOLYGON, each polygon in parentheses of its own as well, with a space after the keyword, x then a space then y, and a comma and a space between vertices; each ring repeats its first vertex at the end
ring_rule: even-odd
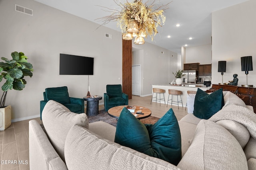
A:
MULTIPOLYGON (((5 79, 6 82, 2 85, 2 90, 4 92, 0 101, 0 109, 6 108, 5 100, 8 90, 22 90, 25 88, 27 83, 24 76, 32 77, 33 75, 33 66, 32 64, 28 63, 28 57, 26 57, 24 53, 14 51, 11 53, 11 56, 12 59, 1 57, 4 62, 0 62, 0 82, 2 82, 3 79, 5 79)), ((7 107, 9 108, 10 106, 7 107)), ((11 112, 10 110, 11 108, 8 109, 8 115, 6 115, 8 119, 11 119, 9 115, 9 112, 11 112)))

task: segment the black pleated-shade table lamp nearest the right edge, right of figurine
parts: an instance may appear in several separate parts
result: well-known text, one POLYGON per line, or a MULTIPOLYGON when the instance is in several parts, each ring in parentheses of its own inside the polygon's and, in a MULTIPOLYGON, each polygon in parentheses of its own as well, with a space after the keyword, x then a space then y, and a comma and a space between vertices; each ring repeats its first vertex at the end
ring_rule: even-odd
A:
POLYGON ((242 87, 253 87, 253 85, 248 85, 248 71, 252 71, 252 56, 241 57, 241 68, 246 74, 246 84, 242 87))

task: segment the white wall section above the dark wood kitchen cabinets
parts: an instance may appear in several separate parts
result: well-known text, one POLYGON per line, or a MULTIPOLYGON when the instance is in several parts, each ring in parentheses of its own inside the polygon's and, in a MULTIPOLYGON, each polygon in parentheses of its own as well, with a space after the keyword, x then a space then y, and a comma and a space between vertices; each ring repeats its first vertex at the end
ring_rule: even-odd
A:
POLYGON ((186 63, 212 63, 212 45, 186 47, 186 63))

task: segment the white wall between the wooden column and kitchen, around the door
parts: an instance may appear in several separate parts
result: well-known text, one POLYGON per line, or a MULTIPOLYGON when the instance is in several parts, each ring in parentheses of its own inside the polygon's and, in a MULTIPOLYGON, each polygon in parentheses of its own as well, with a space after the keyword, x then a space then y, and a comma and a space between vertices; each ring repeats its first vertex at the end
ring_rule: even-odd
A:
POLYGON ((137 54, 133 56, 133 60, 136 62, 133 64, 142 65, 143 91, 141 96, 152 95, 153 84, 168 84, 171 80, 176 79, 172 72, 177 70, 177 53, 147 42, 144 45, 132 44, 132 47, 140 51, 133 53, 133 55, 137 54), (143 56, 138 57, 138 53, 143 56))

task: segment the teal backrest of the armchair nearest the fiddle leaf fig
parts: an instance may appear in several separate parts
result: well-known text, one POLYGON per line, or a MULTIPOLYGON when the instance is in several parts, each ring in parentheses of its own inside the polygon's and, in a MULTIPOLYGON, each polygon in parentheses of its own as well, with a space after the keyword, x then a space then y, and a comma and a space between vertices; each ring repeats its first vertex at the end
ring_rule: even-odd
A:
POLYGON ((46 100, 54 100, 61 104, 70 104, 70 98, 68 95, 68 87, 55 87, 45 89, 46 100))

